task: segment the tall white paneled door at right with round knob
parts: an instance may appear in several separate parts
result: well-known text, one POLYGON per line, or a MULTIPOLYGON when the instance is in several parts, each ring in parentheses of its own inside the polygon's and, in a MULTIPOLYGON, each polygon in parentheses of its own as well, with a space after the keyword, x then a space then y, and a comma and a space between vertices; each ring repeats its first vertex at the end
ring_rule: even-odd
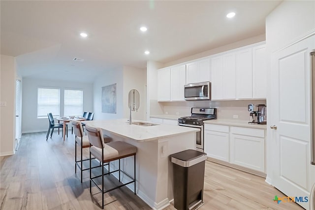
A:
MULTIPOLYGON (((309 197, 310 38, 272 53, 269 116, 272 116, 273 185, 290 197, 309 197)), ((314 45, 313 45, 314 47, 314 45)), ((269 129, 270 129, 269 128, 269 129)), ((313 176, 313 177, 312 177, 313 176)), ((309 209, 309 202, 298 202, 309 209)))

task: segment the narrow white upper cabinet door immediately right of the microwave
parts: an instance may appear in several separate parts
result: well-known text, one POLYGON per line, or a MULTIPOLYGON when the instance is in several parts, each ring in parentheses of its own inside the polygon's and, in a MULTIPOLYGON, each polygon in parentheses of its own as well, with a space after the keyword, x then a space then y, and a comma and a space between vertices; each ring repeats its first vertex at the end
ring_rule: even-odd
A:
POLYGON ((223 57, 211 59, 211 100, 223 98, 223 57))

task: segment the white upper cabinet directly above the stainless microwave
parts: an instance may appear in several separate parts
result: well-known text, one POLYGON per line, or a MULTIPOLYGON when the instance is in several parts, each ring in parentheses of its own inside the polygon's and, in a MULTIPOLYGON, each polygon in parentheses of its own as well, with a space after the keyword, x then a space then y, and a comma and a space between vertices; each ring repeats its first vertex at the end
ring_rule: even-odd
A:
POLYGON ((210 81, 210 58, 186 65, 186 83, 210 81))

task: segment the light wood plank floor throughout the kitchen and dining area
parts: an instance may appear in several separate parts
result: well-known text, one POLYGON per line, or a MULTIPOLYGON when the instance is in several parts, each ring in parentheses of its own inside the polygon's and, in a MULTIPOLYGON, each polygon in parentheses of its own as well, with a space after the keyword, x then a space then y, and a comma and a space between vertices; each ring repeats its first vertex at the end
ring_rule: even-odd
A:
MULTIPOLYGON (((101 209, 95 187, 90 195, 89 172, 84 172, 82 184, 79 171, 74 173, 74 136, 65 141, 58 132, 48 141, 45 136, 24 134, 15 155, 0 157, 0 210, 101 209)), ((294 203, 275 203, 275 195, 284 196, 262 177, 206 161, 199 210, 303 210, 294 203)), ((104 202, 108 210, 151 209, 126 187, 105 194, 104 202)))

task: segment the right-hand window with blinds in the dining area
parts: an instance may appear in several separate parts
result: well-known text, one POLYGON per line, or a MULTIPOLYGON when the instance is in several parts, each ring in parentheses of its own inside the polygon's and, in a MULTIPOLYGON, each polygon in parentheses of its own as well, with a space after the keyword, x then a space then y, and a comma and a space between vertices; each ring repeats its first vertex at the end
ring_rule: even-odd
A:
POLYGON ((82 116, 83 91, 64 90, 64 116, 82 116))

